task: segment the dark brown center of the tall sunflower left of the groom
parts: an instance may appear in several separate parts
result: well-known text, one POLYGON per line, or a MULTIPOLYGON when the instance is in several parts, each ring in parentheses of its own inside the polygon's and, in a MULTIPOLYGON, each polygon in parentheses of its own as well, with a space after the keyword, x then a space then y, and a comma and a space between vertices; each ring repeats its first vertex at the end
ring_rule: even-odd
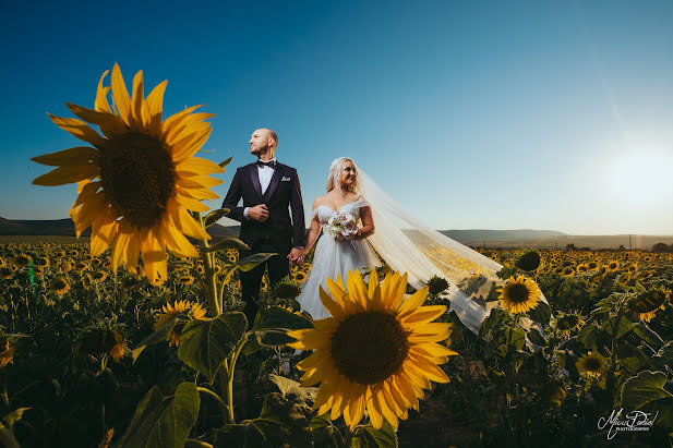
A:
POLYGON ((143 133, 109 140, 100 157, 100 180, 115 211, 136 227, 152 227, 164 214, 175 189, 170 154, 143 133))

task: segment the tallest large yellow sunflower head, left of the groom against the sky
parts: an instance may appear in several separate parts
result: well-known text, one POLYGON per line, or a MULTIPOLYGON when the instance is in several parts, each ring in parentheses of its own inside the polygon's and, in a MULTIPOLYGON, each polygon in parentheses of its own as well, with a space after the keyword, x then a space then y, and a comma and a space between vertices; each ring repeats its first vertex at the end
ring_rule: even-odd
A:
POLYGON ((118 64, 112 68, 111 87, 98 82, 94 109, 67 104, 84 121, 49 116, 61 129, 91 146, 80 146, 33 158, 53 171, 33 181, 37 185, 77 182, 70 216, 77 237, 92 227, 91 255, 111 246, 112 271, 124 263, 136 271, 142 254, 146 276, 154 284, 167 278, 170 251, 178 257, 197 257, 185 238, 209 239, 188 210, 206 211, 201 199, 218 196, 209 189, 221 183, 208 177, 225 170, 209 160, 193 157, 211 135, 204 120, 211 113, 188 108, 163 120, 166 81, 144 98, 143 72, 133 78, 131 97, 118 64), (116 110, 108 104, 112 92, 116 110))

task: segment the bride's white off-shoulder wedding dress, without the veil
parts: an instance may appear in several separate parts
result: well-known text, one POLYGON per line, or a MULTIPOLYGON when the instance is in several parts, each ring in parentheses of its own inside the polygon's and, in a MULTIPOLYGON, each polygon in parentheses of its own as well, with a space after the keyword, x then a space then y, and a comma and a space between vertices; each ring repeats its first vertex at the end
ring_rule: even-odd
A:
MULTIPOLYGON (((337 213, 351 214, 360 219, 360 208, 369 206, 364 197, 342 205, 335 210, 326 205, 319 205, 313 210, 313 218, 317 215, 321 226, 325 226, 329 218, 337 213)), ((372 267, 381 266, 378 257, 365 240, 335 240, 323 232, 317 240, 311 273, 302 284, 301 294, 297 301, 303 311, 309 312, 313 319, 329 317, 329 313, 320 300, 320 286, 327 289, 327 278, 336 280, 340 275, 344 282, 348 271, 359 269, 361 273, 372 267)))

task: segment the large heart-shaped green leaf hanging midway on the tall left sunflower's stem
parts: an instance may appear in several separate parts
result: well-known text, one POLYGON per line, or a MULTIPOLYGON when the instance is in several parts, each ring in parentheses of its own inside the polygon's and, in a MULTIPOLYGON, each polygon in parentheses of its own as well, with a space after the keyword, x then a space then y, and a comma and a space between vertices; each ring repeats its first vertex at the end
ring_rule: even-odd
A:
POLYGON ((178 356, 211 383, 248 327, 243 313, 230 312, 208 320, 189 322, 182 329, 178 356))

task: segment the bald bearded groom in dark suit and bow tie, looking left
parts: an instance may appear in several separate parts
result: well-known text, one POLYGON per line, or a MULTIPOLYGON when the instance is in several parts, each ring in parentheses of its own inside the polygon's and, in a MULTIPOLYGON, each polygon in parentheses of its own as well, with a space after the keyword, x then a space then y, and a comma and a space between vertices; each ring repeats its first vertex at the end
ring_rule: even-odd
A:
POLYGON ((250 246, 250 251, 240 251, 241 258, 261 252, 278 254, 248 273, 241 271, 244 313, 250 325, 259 311, 265 266, 273 286, 290 273, 290 263, 303 262, 305 226, 299 177, 295 168, 276 160, 277 146, 278 136, 271 129, 252 133, 250 154, 257 161, 236 170, 223 202, 223 208, 230 210, 227 217, 241 222, 240 239, 250 246), (239 207, 241 197, 243 206, 239 207), (292 208, 291 220, 288 206, 292 208))

